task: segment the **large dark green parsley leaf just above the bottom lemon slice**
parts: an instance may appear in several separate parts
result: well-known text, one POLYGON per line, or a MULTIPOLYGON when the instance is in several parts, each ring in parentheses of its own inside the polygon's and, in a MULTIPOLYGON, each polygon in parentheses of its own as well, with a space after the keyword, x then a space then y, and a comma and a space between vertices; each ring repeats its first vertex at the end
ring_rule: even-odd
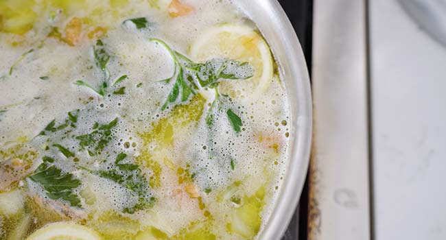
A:
POLYGON ((41 184, 50 199, 65 200, 71 206, 81 207, 78 195, 73 194, 73 189, 79 187, 80 180, 73 178, 73 174, 62 173, 57 167, 42 163, 29 178, 41 184))

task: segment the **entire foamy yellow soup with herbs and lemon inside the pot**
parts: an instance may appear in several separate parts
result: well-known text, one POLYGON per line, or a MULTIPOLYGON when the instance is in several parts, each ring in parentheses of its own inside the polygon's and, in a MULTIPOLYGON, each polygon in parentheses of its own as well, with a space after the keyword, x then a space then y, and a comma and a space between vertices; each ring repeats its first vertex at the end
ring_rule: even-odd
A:
POLYGON ((255 239, 287 96, 237 4, 0 1, 0 239, 255 239))

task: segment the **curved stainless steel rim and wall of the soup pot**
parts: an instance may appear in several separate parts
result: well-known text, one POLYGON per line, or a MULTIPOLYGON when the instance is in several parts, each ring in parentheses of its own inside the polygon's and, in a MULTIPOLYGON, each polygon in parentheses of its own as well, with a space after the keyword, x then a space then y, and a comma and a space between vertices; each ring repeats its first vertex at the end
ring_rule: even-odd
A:
POLYGON ((307 174, 312 139, 312 96, 301 45, 276 0, 238 0, 259 27, 279 64, 290 101, 290 151, 287 173, 274 211, 259 239, 281 239, 294 213, 307 174))

